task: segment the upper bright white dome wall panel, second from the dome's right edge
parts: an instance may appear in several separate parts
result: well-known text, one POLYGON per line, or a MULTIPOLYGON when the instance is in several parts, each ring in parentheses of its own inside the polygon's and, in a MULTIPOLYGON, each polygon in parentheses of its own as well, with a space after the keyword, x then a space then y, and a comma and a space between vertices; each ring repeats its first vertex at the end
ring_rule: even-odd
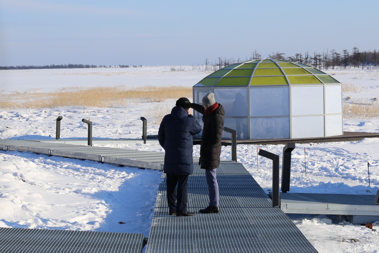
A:
POLYGON ((324 114, 324 87, 292 87, 292 115, 324 114))

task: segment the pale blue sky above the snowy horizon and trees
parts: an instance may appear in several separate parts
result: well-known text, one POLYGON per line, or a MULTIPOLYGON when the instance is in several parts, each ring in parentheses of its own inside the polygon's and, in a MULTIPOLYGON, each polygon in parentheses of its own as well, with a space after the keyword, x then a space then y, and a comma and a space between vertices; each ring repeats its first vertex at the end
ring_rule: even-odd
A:
POLYGON ((0 66, 379 50, 379 0, 0 0, 0 66))

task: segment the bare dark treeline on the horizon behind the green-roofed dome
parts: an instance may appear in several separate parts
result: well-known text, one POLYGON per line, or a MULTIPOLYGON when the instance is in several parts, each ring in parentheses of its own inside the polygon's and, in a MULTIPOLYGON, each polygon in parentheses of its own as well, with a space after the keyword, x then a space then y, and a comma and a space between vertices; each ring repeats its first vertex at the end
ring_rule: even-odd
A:
MULTIPOLYGON (((255 50, 252 52, 250 57, 246 57, 245 59, 240 57, 238 57, 238 59, 222 59, 222 57, 219 57, 215 60, 215 62, 211 62, 207 58, 204 62, 204 65, 202 65, 201 68, 200 66, 197 66, 197 68, 205 71, 215 71, 237 62, 262 58, 265 57, 262 57, 262 55, 259 54, 257 50, 255 50)), ((326 50, 322 53, 296 53, 295 55, 288 57, 285 56, 285 53, 278 51, 276 53, 273 52, 272 54, 269 54, 267 58, 301 62, 306 65, 324 70, 328 70, 329 68, 334 69, 335 67, 354 67, 363 69, 368 66, 378 66, 378 55, 376 49, 374 49, 374 51, 359 51, 358 47, 353 47, 351 52, 349 52, 347 49, 343 49, 341 53, 338 53, 335 51, 335 49, 332 49, 330 51, 326 50)))

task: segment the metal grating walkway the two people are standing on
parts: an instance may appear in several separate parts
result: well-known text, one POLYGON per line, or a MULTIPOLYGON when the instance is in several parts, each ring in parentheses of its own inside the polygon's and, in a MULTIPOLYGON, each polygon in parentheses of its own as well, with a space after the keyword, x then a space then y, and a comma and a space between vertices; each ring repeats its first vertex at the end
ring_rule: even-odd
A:
MULTIPOLYGON (((188 181, 188 210, 208 203, 204 171, 195 165, 188 181)), ((146 253, 317 252, 240 163, 221 163, 217 180, 221 213, 168 215, 162 174, 146 253)))

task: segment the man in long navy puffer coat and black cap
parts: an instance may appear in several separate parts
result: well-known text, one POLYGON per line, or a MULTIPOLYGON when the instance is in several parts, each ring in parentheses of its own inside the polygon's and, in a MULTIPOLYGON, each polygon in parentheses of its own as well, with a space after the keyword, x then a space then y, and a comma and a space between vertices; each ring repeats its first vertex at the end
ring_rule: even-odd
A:
POLYGON ((191 102, 179 98, 171 114, 163 117, 158 131, 158 141, 163 147, 166 173, 167 203, 169 215, 192 216, 188 212, 187 188, 188 176, 193 172, 192 136, 200 133, 201 126, 189 112, 191 102))

